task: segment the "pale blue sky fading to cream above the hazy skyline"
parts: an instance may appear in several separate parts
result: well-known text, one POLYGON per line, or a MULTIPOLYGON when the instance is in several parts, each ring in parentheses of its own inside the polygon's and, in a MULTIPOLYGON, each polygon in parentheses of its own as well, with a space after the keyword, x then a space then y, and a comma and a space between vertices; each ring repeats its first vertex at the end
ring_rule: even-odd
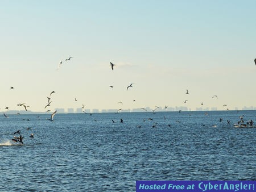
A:
POLYGON ((255 6, 0 0, 0 111, 256 106, 255 6))

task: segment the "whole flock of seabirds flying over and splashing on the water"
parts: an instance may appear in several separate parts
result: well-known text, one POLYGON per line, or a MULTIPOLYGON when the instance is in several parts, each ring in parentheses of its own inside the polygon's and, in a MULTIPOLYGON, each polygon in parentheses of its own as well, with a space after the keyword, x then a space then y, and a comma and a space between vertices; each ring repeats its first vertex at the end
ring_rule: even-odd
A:
MULTIPOLYGON (((71 61, 72 58, 73 58, 73 57, 69 57, 68 59, 65 59, 65 61, 71 61)), ((255 65, 256 65, 256 58, 254 59, 254 62, 255 62, 255 65)), ((63 64, 63 61, 61 60, 61 61, 59 62, 59 64, 58 64, 58 66, 57 66, 57 69, 60 69, 60 67, 61 67, 62 64, 63 64)), ((111 66, 111 69, 114 70, 115 64, 113 64, 112 62, 110 62, 110 66, 111 66)), ((127 86, 127 87, 126 87, 126 90, 128 91, 130 87, 133 87, 133 85, 134 85, 134 84, 130 84, 129 86, 127 86)), ((109 87, 111 87, 112 89, 114 88, 113 85, 110 85, 109 87)), ((14 87, 11 86, 10 89, 14 89, 14 87)), ((51 95, 52 95, 52 94, 55 94, 55 91, 51 91, 51 93, 49 94, 49 97, 47 97, 47 105, 44 107, 45 109, 47 108, 47 111, 46 111, 46 112, 51 111, 51 110, 48 109, 48 107, 51 106, 51 103, 52 103, 52 101, 51 101, 51 95)), ((185 94, 189 94, 188 89, 186 90, 185 94)), ((214 99, 214 98, 215 98, 215 99, 218 99, 218 96, 217 96, 217 95, 213 95, 212 98, 213 98, 213 99, 214 99)), ((75 98, 75 101, 77 101, 76 98, 75 98)), ((135 100, 133 100, 133 101, 135 102, 135 100)), ((188 99, 186 99, 186 100, 183 101, 183 102, 184 102, 184 103, 187 103, 187 101, 188 101, 188 99)), ((122 101, 119 101, 118 103, 123 104, 122 101)), ((204 103, 201 102, 201 105, 204 105, 204 103)), ((27 106, 26 103, 18 103, 18 106, 24 107, 24 110, 26 110, 26 111, 27 111, 27 108, 30 107, 30 106, 27 106)), ((223 107, 224 107, 224 106, 227 106, 227 105, 224 104, 223 107)), ((82 112, 84 112, 84 113, 86 114, 86 112, 85 112, 85 110, 84 110, 84 107, 85 107, 84 104, 82 104, 82 112)), ((156 107, 156 108, 154 108, 154 109, 152 110, 153 114, 155 114, 155 111, 159 108, 159 106, 155 106, 155 107, 156 107)), ((168 105, 164 106, 165 109, 167 109, 167 107, 168 107, 168 105)), ((5 106, 5 109, 6 109, 6 110, 9 110, 9 107, 8 107, 8 106, 5 106)), ((144 111, 147 111, 146 108, 141 107, 141 109, 144 110, 144 111)), ((228 110, 228 108, 226 108, 226 109, 228 110)), ((117 114, 118 112, 120 112, 121 110, 122 110, 122 108, 119 108, 119 109, 117 110, 116 114, 117 114)), ((53 116, 56 114, 56 112, 57 112, 57 110, 51 114, 51 118, 48 118, 48 120, 50 120, 51 122, 53 122, 53 116)), ((181 112, 181 110, 179 110, 179 113, 180 113, 180 112, 181 112)), ((3 113, 3 115, 5 116, 5 118, 9 118, 9 116, 7 116, 5 113, 3 113)), ((18 113, 18 115, 19 115, 19 113, 18 113)), ((90 115, 92 115, 92 114, 90 114, 90 115)), ((208 112, 205 112, 205 115, 208 115, 208 112)), ((40 119, 39 116, 38 116, 38 119, 40 119)), ((164 119, 166 119, 165 116, 164 116, 164 119)), ((25 120, 25 119, 23 119, 23 120, 25 120)), ((27 120, 29 120, 29 119, 27 119, 27 120)), ((143 119, 143 122, 145 122, 146 120, 147 120, 147 119, 143 119)), ((152 118, 148 118, 148 120, 153 120, 153 119, 152 119, 152 118)), ((220 118, 219 121, 222 122, 222 120, 223 120, 223 119, 220 118)), ((97 121, 97 120, 95 120, 95 121, 97 121)), ((228 124, 230 124, 230 120, 226 120, 226 121, 227 121, 228 124)), ((114 121, 113 119, 112 119, 112 122, 115 123, 115 121, 114 121)), ((123 119, 121 118, 119 122, 120 122, 120 123, 123 123, 123 119)), ((177 122, 177 123, 180 123, 179 120, 176 121, 176 122, 177 122)), ((158 124, 158 123, 154 123, 154 124, 152 125, 152 128, 155 128, 157 124, 158 124)), ((245 122, 245 120, 243 120, 243 116, 240 116, 240 120, 238 120, 238 122, 237 122, 236 124, 233 124, 233 126, 234 126, 234 127, 244 128, 244 127, 253 127, 253 124, 254 124, 253 120, 249 120, 249 121, 245 122)), ((171 127, 171 124, 167 124, 167 126, 168 126, 168 127, 171 127)), ((205 126, 205 125, 202 124, 202 126, 205 126)), ((137 127, 141 128, 141 125, 139 125, 139 126, 137 126, 137 127)), ((213 125, 213 127, 216 127, 216 125, 213 125)), ((31 129, 31 128, 27 128, 27 130, 30 130, 30 129, 31 129)), ((13 139, 11 139, 11 140, 12 140, 14 143, 23 144, 23 138, 24 138, 24 136, 21 135, 20 130, 15 131, 13 135, 14 135, 14 136, 13 136, 13 139), (17 136, 17 134, 19 134, 19 136, 17 136)), ((29 137, 34 138, 34 133, 30 133, 30 136, 29 136, 29 137)))

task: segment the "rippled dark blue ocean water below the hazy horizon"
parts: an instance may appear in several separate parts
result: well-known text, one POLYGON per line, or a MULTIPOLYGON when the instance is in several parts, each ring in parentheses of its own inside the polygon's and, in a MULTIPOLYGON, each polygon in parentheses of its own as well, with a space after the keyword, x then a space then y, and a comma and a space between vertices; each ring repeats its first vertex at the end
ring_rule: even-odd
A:
POLYGON ((57 113, 54 122, 49 116, 0 118, 0 191, 135 191, 136 180, 256 180, 256 111, 57 113), (254 128, 234 127, 240 116, 254 128), (17 130, 22 145, 11 141, 17 130))

